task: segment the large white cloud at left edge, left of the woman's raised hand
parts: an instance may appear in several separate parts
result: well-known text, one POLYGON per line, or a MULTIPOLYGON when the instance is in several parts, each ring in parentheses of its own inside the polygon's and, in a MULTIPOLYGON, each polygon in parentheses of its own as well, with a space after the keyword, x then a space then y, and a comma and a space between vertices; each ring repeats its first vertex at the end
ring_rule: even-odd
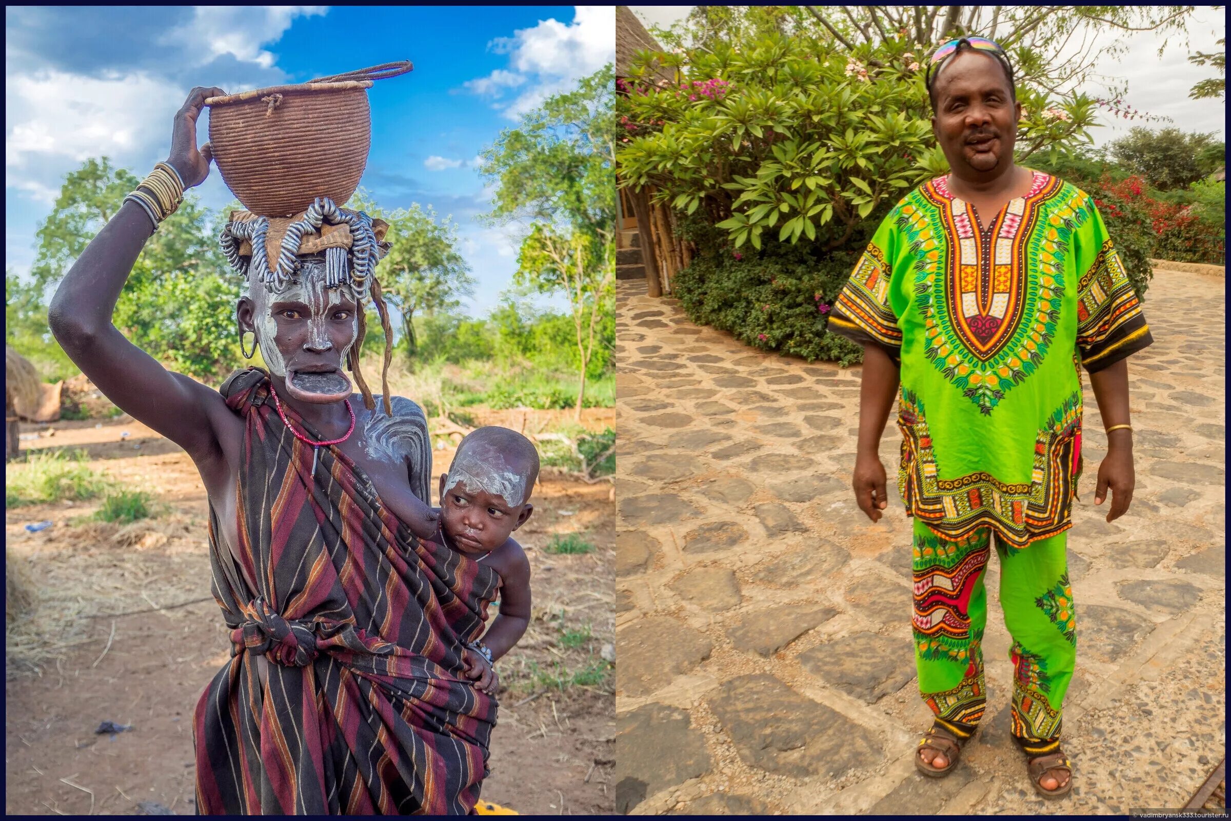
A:
MULTIPOLYGON (((5 167, 31 159, 80 162, 107 155, 123 164, 171 138, 171 113, 186 91, 144 73, 89 78, 63 71, 5 80, 5 167)), ((7 181, 6 185, 15 185, 7 181)), ((16 187, 33 191, 33 183, 16 187)))

